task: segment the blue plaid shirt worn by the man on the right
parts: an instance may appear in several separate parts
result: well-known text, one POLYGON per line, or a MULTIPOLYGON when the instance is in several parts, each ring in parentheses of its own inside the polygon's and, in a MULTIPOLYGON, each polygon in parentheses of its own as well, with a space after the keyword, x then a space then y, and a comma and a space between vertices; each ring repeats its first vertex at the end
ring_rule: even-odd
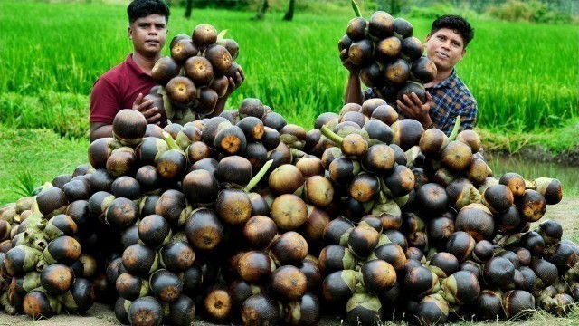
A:
MULTIPOLYGON (((460 116, 459 131, 474 127, 477 121, 477 101, 464 82, 460 81, 456 70, 453 70, 444 81, 426 88, 426 91, 432 96, 429 114, 436 129, 441 129, 447 136, 450 135, 457 116, 460 116)), ((373 89, 366 89, 363 95, 364 100, 378 97, 373 89)), ((395 103, 390 105, 396 107, 395 103)))

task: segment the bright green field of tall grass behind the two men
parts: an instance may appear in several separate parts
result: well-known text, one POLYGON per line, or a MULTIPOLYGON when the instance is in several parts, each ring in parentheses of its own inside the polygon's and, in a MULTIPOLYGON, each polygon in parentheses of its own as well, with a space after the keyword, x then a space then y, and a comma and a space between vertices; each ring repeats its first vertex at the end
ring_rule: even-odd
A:
MULTIPOLYGON (((238 62, 247 76, 229 106, 256 97, 306 128, 311 128, 319 113, 339 110, 346 69, 338 58, 337 41, 345 34, 351 11, 298 12, 292 22, 282 22, 280 12, 252 22, 254 14, 195 9, 186 21, 183 9, 174 8, 169 38, 189 34, 201 23, 228 30, 227 36, 240 44, 238 62)), ((370 14, 364 13, 366 18, 370 14)), ((408 19, 414 34, 423 40, 430 20, 408 19)), ((479 126, 531 131, 558 127, 577 117, 577 25, 479 18, 472 18, 471 23, 475 39, 457 69, 479 102, 479 126)), ((0 3, 0 93, 16 94, 12 95, 16 99, 50 91, 88 96, 100 74, 131 51, 126 29, 124 5, 0 3), (26 19, 19 13, 26 13, 26 19)), ((30 115, 30 107, 13 102, 12 109, 2 108, 3 120, 30 115)), ((39 110, 54 110, 50 102, 41 106, 39 110)), ((71 110, 77 110, 75 115, 88 114, 84 102, 75 102, 71 110)), ((51 114, 39 120, 58 120, 62 112, 51 114)), ((18 125, 16 119, 5 123, 18 125)), ((37 124, 43 127, 45 123, 37 124)), ((86 135, 76 127, 56 131, 86 135)))

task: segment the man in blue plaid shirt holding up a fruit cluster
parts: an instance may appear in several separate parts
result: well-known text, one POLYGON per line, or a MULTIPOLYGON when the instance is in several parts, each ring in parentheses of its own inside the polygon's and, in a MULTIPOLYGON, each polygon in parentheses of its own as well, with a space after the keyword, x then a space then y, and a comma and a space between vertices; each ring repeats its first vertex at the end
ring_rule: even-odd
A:
MULTIPOLYGON (((425 103, 422 103, 415 93, 411 97, 403 95, 403 101, 396 101, 395 107, 402 117, 419 120, 425 129, 441 129, 447 135, 451 134, 458 116, 460 130, 474 127, 477 120, 477 101, 454 69, 464 58, 472 37, 472 27, 458 15, 443 15, 432 23, 424 47, 427 57, 436 64, 437 74, 432 82, 424 84, 427 91, 425 103)), ((350 71, 346 103, 362 104, 366 99, 377 97, 372 89, 361 91, 356 67, 347 59, 346 50, 340 53, 340 57, 350 71)))

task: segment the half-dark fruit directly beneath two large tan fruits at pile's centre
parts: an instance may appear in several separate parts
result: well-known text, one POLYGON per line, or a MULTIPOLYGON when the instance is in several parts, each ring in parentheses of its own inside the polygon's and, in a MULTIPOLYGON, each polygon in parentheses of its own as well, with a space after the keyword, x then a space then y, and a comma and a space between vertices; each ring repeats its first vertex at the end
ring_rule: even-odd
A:
POLYGON ((270 256, 278 266, 299 264, 307 255, 308 242, 297 232, 286 232, 271 242, 270 256))

